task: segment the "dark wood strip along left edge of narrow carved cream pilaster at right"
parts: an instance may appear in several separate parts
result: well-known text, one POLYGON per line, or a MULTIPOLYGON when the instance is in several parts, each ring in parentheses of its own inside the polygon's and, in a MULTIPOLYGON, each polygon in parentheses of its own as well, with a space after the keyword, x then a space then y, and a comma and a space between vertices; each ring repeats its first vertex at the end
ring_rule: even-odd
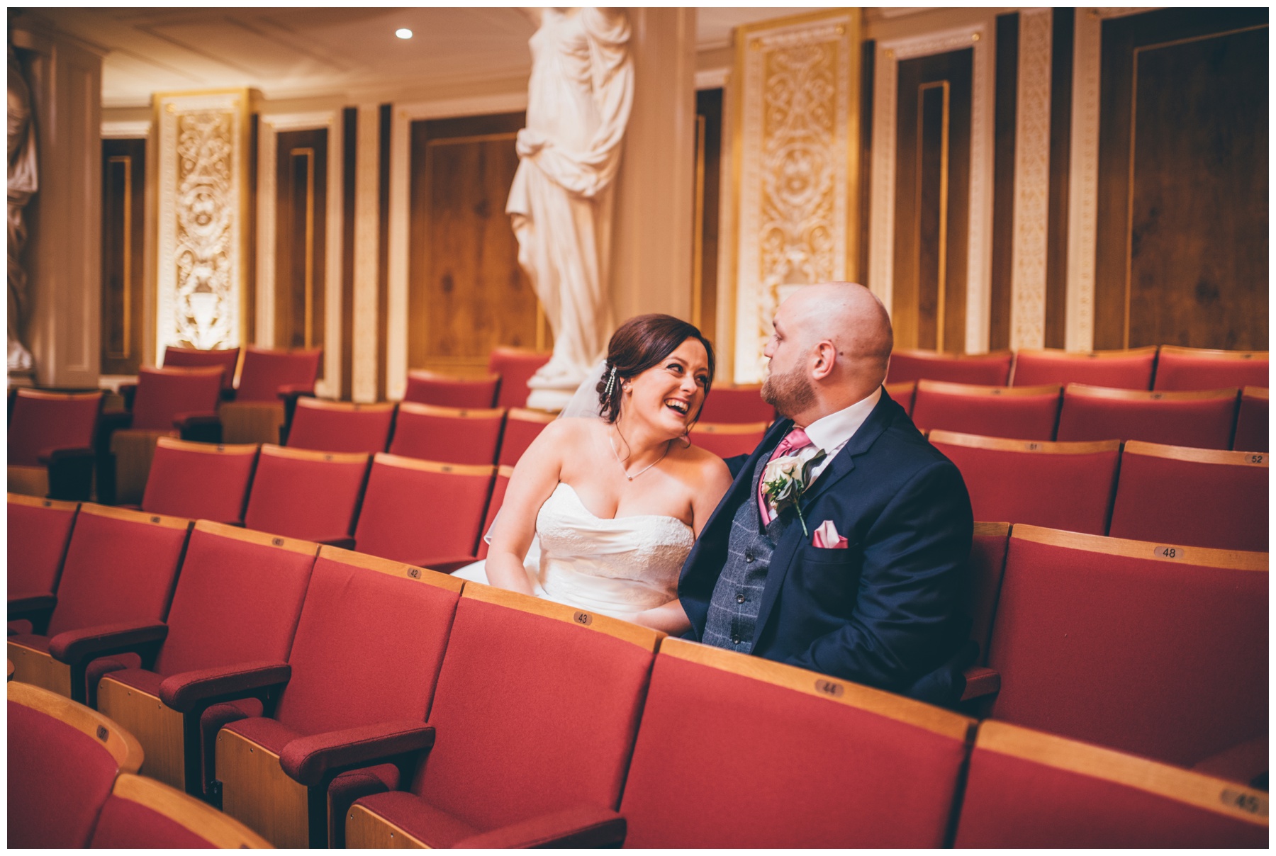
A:
POLYGON ((1018 119, 1020 13, 997 17, 997 100, 993 149, 993 264, 988 347, 1011 347, 1014 273, 1014 122, 1018 119))

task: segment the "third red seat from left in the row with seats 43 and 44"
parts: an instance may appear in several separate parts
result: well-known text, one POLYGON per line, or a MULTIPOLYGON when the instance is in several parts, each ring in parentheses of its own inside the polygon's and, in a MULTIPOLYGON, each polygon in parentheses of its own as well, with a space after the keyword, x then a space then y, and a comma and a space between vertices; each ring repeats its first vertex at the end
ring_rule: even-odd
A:
MULTIPOLYGON (((219 703, 227 695, 246 698, 234 704, 260 716, 260 699, 287 676, 318 552, 308 541, 199 520, 167 624, 120 625, 79 646, 77 653, 131 646, 144 654, 143 668, 115 656, 96 660, 88 677, 97 685, 97 709, 142 741, 148 776, 188 793, 207 792, 200 758, 212 754, 219 703), (202 691, 208 686, 216 693, 202 691)), ((52 652, 66 653, 57 646, 52 652)))

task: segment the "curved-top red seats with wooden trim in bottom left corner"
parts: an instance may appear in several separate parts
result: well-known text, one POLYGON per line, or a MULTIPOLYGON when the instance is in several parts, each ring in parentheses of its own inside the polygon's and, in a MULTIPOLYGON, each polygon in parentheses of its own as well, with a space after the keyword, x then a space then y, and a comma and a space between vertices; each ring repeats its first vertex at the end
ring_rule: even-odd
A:
POLYGON ((31 684, 10 683, 8 694, 10 848, 271 846, 205 802, 138 776, 140 744, 101 713, 31 684))

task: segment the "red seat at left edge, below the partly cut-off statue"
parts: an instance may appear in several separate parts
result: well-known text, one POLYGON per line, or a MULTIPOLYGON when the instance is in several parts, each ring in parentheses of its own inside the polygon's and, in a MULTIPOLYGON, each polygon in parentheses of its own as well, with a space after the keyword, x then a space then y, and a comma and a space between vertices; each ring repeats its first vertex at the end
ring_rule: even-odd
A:
POLYGON ((18 389, 9 413, 9 490, 87 500, 102 393, 18 389))

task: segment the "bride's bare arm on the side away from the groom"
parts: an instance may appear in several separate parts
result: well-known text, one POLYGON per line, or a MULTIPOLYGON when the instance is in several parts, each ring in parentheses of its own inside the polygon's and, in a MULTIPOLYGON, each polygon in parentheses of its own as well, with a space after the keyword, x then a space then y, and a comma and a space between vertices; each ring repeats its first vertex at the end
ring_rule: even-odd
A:
POLYGON ((568 420, 550 422, 514 466, 487 547, 487 582, 493 586, 532 593, 523 556, 536 535, 536 514, 559 482, 561 449, 573 427, 568 420))

